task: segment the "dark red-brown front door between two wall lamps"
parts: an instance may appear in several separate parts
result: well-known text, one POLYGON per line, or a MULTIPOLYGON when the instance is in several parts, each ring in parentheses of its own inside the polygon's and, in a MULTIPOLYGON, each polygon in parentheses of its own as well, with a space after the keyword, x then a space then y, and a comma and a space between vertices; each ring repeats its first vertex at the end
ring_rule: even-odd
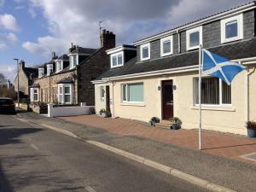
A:
POLYGON ((162 110, 163 119, 170 119, 173 117, 172 80, 162 81, 162 110))

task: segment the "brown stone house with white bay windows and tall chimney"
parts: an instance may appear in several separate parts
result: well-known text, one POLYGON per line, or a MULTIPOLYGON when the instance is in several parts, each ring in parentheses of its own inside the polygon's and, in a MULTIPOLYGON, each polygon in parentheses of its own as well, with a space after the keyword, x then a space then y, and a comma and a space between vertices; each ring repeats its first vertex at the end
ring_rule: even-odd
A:
POLYGON ((38 78, 31 86, 31 102, 94 105, 91 80, 109 69, 107 49, 115 47, 115 35, 101 34, 101 48, 71 46, 67 55, 52 55, 51 61, 38 67, 38 78))

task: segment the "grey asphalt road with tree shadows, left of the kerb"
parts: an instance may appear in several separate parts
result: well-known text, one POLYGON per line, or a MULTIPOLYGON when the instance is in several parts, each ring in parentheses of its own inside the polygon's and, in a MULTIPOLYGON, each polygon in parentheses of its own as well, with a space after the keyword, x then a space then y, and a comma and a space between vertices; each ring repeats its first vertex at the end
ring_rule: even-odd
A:
POLYGON ((0 191, 207 190, 73 137, 0 114, 0 191))

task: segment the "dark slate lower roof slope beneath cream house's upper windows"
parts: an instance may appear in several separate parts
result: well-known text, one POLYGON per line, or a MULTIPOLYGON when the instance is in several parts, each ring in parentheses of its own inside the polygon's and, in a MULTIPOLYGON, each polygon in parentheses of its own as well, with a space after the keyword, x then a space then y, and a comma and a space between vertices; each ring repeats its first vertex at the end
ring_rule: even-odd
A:
MULTIPOLYGON (((225 44, 207 50, 230 60, 254 57, 256 56, 256 38, 233 44, 225 44)), ((133 73, 145 73, 176 67, 194 66, 198 65, 198 58, 198 50, 143 62, 137 62, 137 57, 134 57, 130 61, 126 62, 124 67, 111 68, 96 80, 133 73)))

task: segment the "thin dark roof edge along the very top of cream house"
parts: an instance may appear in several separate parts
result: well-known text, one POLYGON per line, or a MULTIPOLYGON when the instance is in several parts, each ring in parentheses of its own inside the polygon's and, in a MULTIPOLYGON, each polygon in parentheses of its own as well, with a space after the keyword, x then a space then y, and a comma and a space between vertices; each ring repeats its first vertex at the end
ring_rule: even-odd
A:
MULTIPOLYGON (((241 7, 246 6, 247 4, 251 4, 251 3, 256 4, 256 1, 252 1, 252 2, 249 2, 249 3, 245 3, 245 4, 242 4, 242 5, 240 5, 240 6, 237 6, 236 8, 227 9, 227 10, 218 12, 217 14, 208 15, 208 16, 206 16, 206 17, 203 17, 203 18, 199 19, 199 20, 190 21, 190 22, 185 23, 185 24, 183 24, 183 25, 176 26, 176 27, 173 27, 173 28, 171 28, 171 29, 168 29, 168 30, 166 30, 165 32, 171 32, 171 31, 173 31, 173 30, 175 30, 175 29, 177 29, 177 28, 180 28, 180 27, 183 27, 183 26, 188 26, 188 25, 190 25, 190 24, 192 24, 192 23, 195 23, 195 22, 198 22, 198 21, 200 21, 200 20, 205 20, 205 19, 210 18, 210 17, 212 17, 212 16, 220 15, 220 14, 223 14, 223 13, 228 12, 228 11, 230 11, 230 10, 238 9, 238 8, 241 8, 241 7)), ((160 34, 165 33, 165 32, 159 32, 159 33, 154 34, 154 35, 151 35, 151 36, 149 36, 149 37, 147 37, 147 38, 153 38, 154 36, 160 35, 160 34)), ((139 39, 139 40, 135 41, 134 44, 136 44, 137 42, 143 41, 143 40, 145 40, 145 39, 147 39, 147 38, 139 39)))

